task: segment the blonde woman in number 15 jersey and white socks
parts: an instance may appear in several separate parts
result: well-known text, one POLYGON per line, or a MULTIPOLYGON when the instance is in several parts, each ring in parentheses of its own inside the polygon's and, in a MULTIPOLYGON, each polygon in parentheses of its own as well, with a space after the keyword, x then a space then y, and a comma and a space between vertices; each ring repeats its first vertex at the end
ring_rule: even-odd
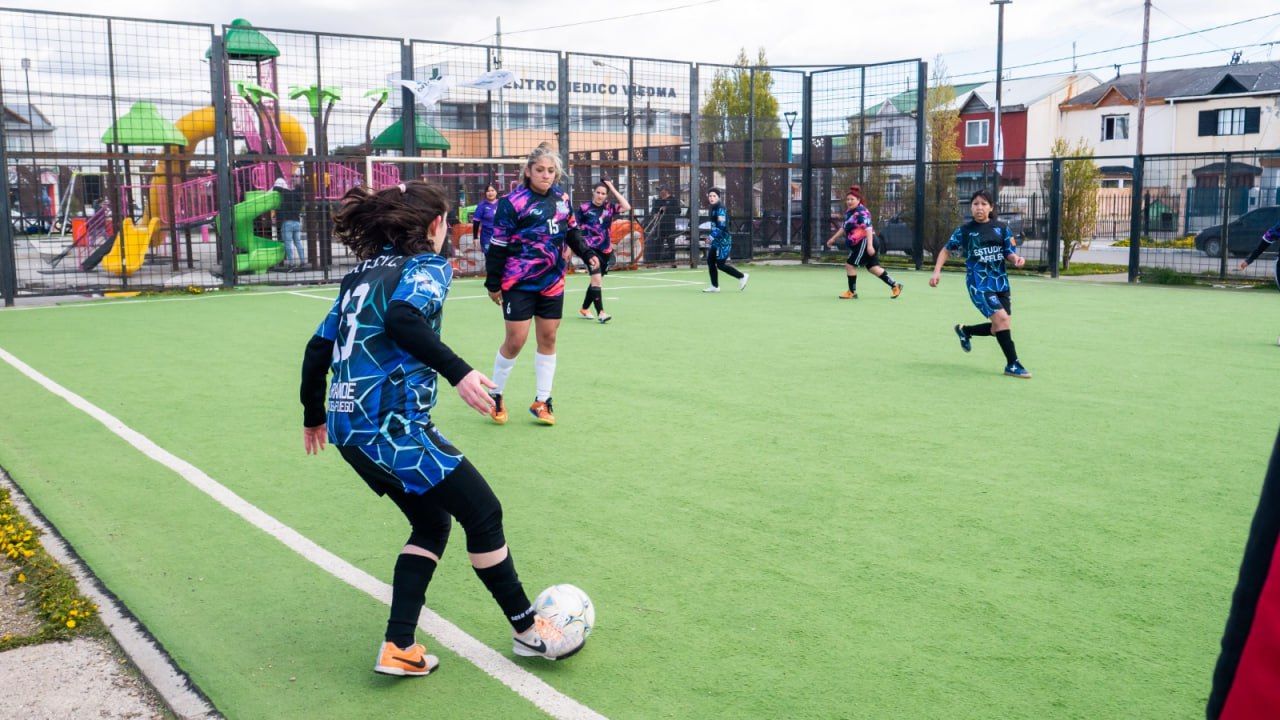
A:
POLYGON ((595 251, 582 237, 570 208, 568 193, 561 190, 564 163, 543 143, 529 154, 522 184, 498 200, 493 223, 493 242, 485 254, 485 290, 502 307, 506 337, 493 359, 494 423, 507 421, 503 393, 516 357, 529 340, 534 324, 538 352, 534 355, 536 395, 529 411, 544 425, 554 425, 552 383, 556 379, 556 333, 564 311, 564 247, 586 261, 591 272, 600 265, 595 251))

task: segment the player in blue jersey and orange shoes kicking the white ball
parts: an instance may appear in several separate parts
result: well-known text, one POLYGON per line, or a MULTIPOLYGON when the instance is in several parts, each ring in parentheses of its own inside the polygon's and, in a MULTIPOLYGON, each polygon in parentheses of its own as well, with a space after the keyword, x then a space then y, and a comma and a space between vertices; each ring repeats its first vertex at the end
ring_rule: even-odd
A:
POLYGON ((349 191, 334 234, 361 260, 302 361, 303 447, 325 441, 410 523, 396 560, 392 607, 374 670, 426 675, 439 659, 415 641, 426 587, 458 520, 476 575, 511 623, 513 652, 559 660, 582 647, 538 618, 507 550, 502 505, 484 477, 431 421, 436 375, 488 413, 494 384, 440 341, 453 272, 439 255, 448 201, 420 181, 379 192, 349 191), (333 379, 325 392, 325 375, 333 379))

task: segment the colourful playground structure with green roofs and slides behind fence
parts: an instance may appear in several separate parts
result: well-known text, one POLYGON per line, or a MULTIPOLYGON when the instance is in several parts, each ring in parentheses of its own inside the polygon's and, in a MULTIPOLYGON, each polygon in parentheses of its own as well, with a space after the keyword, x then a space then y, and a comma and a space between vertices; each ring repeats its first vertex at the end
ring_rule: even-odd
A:
MULTIPOLYGON (((244 156, 262 156, 261 161, 241 163, 232 172, 232 237, 237 251, 236 272, 262 273, 284 259, 283 243, 255 232, 255 222, 280 206, 280 196, 273 190, 278 178, 294 182, 297 163, 289 156, 301 156, 308 150, 307 131, 292 114, 279 108, 276 86, 276 59, 279 50, 246 20, 236 20, 227 37, 228 64, 237 76, 228 82, 230 140, 242 141, 244 156)), ((383 88, 381 95, 385 95, 383 88)), ((366 95, 375 94, 370 91, 366 95)), ((291 97, 307 97, 312 114, 319 114, 320 102, 328 100, 329 109, 340 99, 340 88, 293 88, 291 97)), ((384 101, 380 100, 379 102, 384 101)), ((56 205, 59 220, 41 240, 29 240, 41 256, 56 264, 76 251, 81 270, 99 269, 105 273, 129 277, 146 263, 152 251, 168 250, 173 268, 178 269, 183 258, 179 233, 201 228, 201 237, 209 240, 209 227, 216 227, 219 215, 218 174, 211 169, 193 170, 191 155, 206 140, 216 135, 216 113, 210 105, 182 115, 177 122, 166 120, 154 102, 136 101, 102 135, 102 142, 111 156, 123 155, 109 169, 76 170, 67 184, 63 199, 56 205), (160 159, 150 172, 138 172, 127 152, 134 147, 157 147, 160 159), (123 218, 115 224, 102 224, 105 232, 93 234, 74 232, 74 227, 87 223, 87 218, 72 217, 69 201, 76 181, 81 176, 95 174, 106 178, 109 186, 104 196, 114 214, 123 218), (118 182, 116 178, 123 178, 118 182), (134 182, 138 178, 138 182, 134 182), (70 238, 67 237, 72 229, 70 238), (69 240, 69 241, 68 241, 69 240), (168 240, 168 242, 165 242, 168 240), (101 243, 105 247, 96 247, 101 243)), ((328 111, 325 113, 328 120, 328 111)), ((370 124, 372 114, 370 115, 370 124)), ((390 131, 393 128, 388 128, 390 131)), ((434 131, 433 131, 434 132, 434 131)), ((397 140, 388 132, 380 136, 379 147, 392 147, 397 140)), ((310 199, 333 201, 351 188, 365 183, 358 163, 328 161, 319 165, 315 182, 308 183, 310 199)), ((401 182, 399 167, 378 163, 371 169, 374 186, 401 182)), ((108 213, 110 217, 113 213, 108 213)), ((186 258, 188 266, 193 252, 187 233, 186 258)), ((50 270, 51 272, 51 270, 50 270)))

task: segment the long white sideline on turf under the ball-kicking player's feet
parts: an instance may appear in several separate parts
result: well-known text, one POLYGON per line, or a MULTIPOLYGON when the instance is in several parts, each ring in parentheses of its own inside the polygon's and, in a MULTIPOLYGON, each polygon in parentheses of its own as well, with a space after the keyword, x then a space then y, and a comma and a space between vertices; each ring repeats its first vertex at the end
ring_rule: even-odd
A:
MULTIPOLYGON (((72 407, 101 423, 106 429, 119 436, 145 456, 173 470, 221 506, 239 515, 250 524, 280 541, 283 544, 311 561, 333 577, 353 588, 364 591, 378 601, 390 605, 392 588, 369 573, 356 568, 328 550, 320 547, 293 528, 259 510, 255 505, 239 497, 225 486, 206 475, 186 460, 160 447, 142 433, 129 428, 123 421, 97 407, 92 402, 64 388, 38 370, 27 365, 10 352, 0 348, 0 360, 27 375, 49 392, 65 400, 72 407)), ((564 720, 603 719, 604 716, 548 685, 536 675, 520 667, 489 646, 462 632, 461 628, 440 618, 430 609, 422 609, 419 626, 435 638, 442 646, 452 650, 480 670, 513 689, 517 694, 538 706, 552 717, 564 720)))

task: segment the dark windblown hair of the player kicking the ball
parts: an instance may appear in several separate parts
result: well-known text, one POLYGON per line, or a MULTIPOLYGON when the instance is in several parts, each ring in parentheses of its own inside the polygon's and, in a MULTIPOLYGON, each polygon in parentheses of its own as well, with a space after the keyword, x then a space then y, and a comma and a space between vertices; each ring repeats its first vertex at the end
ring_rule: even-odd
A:
POLYGON ((353 187, 333 214, 333 233, 356 258, 367 260, 390 246, 402 255, 439 252, 426 233, 449 211, 444 191, 410 181, 372 191, 353 187))

